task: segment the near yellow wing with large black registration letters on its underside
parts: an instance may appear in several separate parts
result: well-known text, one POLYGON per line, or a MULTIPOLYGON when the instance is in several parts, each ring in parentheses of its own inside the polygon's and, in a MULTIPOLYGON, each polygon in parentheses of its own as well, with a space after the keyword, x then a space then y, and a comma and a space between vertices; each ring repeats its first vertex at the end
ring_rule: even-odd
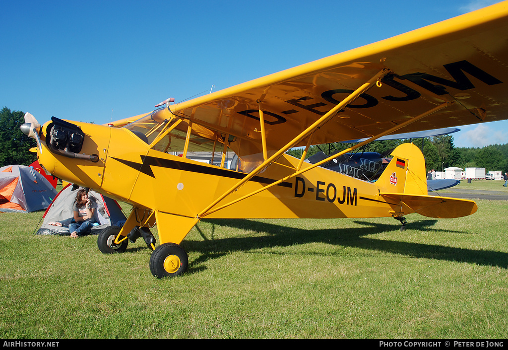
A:
MULTIPOLYGON (((388 68, 378 85, 314 132, 312 143, 376 135, 443 102, 400 132, 503 120, 508 110, 508 2, 170 106, 210 130, 278 150, 388 68)), ((297 145, 305 145, 302 140, 297 145)), ((252 152, 250 150, 249 152, 252 152)))

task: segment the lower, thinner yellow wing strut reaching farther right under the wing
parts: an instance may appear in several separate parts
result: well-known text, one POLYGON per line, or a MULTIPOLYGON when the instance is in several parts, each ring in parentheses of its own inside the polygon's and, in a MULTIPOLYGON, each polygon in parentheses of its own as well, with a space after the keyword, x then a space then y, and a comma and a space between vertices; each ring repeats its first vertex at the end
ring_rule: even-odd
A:
MULTIPOLYGON (((332 160, 332 159, 334 159, 334 158, 340 157, 340 156, 341 156, 341 155, 343 155, 344 153, 348 153, 348 152, 351 152, 351 151, 353 151, 353 150, 356 150, 357 148, 360 148, 360 147, 362 147, 363 145, 365 145, 365 144, 367 144, 367 143, 369 143, 369 142, 372 142, 372 141, 376 140, 376 139, 377 139, 377 138, 379 138, 379 137, 383 137, 383 136, 388 135, 388 134, 390 134, 390 133, 392 133, 392 132, 394 132, 394 131, 396 131, 396 130, 399 130, 399 129, 401 129, 401 128, 403 128, 403 127, 405 127, 405 126, 407 126, 407 125, 409 125, 409 124, 411 124, 411 123, 417 122, 417 121, 419 121, 420 119, 425 118, 427 115, 430 115, 430 114, 432 114, 432 113, 434 113, 434 112, 436 112, 436 111, 438 111, 438 110, 440 110, 440 109, 442 109, 442 108, 445 108, 445 107, 447 107, 447 106, 450 106, 450 105, 452 105, 453 103, 454 103, 453 101, 451 101, 451 102, 444 102, 444 103, 440 104, 439 106, 436 106, 436 107, 434 107, 434 108, 432 108, 432 109, 428 110, 428 111, 427 111, 427 112, 425 112, 425 113, 422 113, 422 114, 420 114, 420 115, 418 115, 418 116, 415 116, 414 118, 411 118, 411 119, 409 119, 409 120, 405 121, 404 123, 401 123, 401 124, 399 124, 399 125, 397 125, 397 126, 395 126, 395 127, 391 128, 391 129, 389 129, 389 130, 387 130, 387 131, 384 131, 384 132, 382 132, 382 133, 380 133, 380 134, 374 135, 374 136, 372 136, 371 138, 369 138, 368 140, 365 140, 365 141, 363 141, 363 142, 360 142, 359 144, 357 144, 357 145, 355 145, 355 146, 353 146, 353 147, 351 147, 351 148, 348 148, 347 150, 344 150, 344 151, 342 151, 342 152, 336 153, 336 154, 334 154, 334 155, 332 155, 332 156, 330 156, 330 157, 328 157, 328 158, 326 158, 326 159, 323 159, 323 160, 322 160, 322 161, 320 161, 320 162, 317 162, 317 163, 315 163, 315 164, 312 164, 311 166, 309 166, 309 167, 307 167, 307 168, 305 168, 305 169, 303 169, 303 170, 297 169, 297 171, 295 171, 293 174, 291 174, 291 175, 289 175, 289 176, 287 176, 287 177, 285 177, 285 178, 283 178, 283 179, 280 179, 280 180, 278 180, 278 181, 275 181, 275 182, 271 183, 270 185, 267 185, 267 186, 265 186, 265 187, 263 187, 263 188, 261 188, 261 189, 259 189, 259 190, 257 190, 257 191, 254 191, 254 192, 251 192, 251 193, 249 193, 249 194, 246 194, 246 195, 244 195, 244 196, 243 196, 243 197, 241 197, 241 198, 235 199, 235 200, 233 200, 233 201, 231 201, 231 202, 229 202, 229 203, 225 204, 224 206, 220 206, 220 207, 218 207, 218 208, 215 208, 214 210, 209 210, 209 211, 207 211, 207 212, 204 212, 201 216, 203 217, 203 216, 206 216, 206 215, 209 215, 209 214, 215 213, 216 211, 219 211, 219 210, 221 210, 221 209, 224 209, 224 208, 226 208, 226 207, 229 207, 229 206, 233 205, 234 203, 237 203, 237 202, 239 202, 239 201, 241 201, 241 200, 243 200, 243 199, 245 199, 245 198, 248 198, 248 197, 250 197, 250 196, 252 196, 252 195, 255 195, 255 194, 257 194, 257 193, 260 193, 260 192, 262 192, 262 191, 264 191, 264 190, 266 190, 266 189, 268 189, 268 188, 270 188, 270 187, 273 187, 273 186, 275 186, 275 185, 278 185, 278 184, 280 184, 280 183, 282 183, 282 182, 284 182, 284 181, 288 181, 289 179, 292 179, 292 178, 294 178, 294 177, 296 177, 296 176, 298 176, 298 175, 300 175, 300 174, 302 174, 302 173, 304 173, 304 172, 306 172, 306 171, 309 171, 309 170, 311 170, 311 169, 315 168, 316 166, 320 166, 320 165, 322 165, 322 164, 325 164, 325 163, 329 162, 330 160, 332 160)), ((303 157, 303 156, 302 156, 302 157, 303 157)), ((225 197, 225 196, 223 196, 222 198, 224 198, 224 197, 225 197)), ((217 201, 216 201, 216 202, 217 202, 217 201)), ((214 202, 214 204, 215 204, 216 202, 214 202)))

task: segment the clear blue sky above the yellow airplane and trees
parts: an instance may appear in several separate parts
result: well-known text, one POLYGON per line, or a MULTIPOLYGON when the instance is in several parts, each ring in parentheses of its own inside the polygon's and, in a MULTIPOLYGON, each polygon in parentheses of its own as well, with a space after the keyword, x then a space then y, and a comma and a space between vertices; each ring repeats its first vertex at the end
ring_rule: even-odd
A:
MULTIPOLYGON (((104 124, 497 2, 0 0, 0 107, 104 124)), ((460 129, 508 142, 508 122, 460 129)))

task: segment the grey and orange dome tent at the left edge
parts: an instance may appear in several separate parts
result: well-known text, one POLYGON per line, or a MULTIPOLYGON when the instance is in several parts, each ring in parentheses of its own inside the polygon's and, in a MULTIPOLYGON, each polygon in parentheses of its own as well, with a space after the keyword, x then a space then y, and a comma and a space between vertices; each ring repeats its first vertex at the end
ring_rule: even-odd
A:
POLYGON ((43 210, 55 196, 53 186, 33 167, 8 165, 0 168, 0 212, 43 210))

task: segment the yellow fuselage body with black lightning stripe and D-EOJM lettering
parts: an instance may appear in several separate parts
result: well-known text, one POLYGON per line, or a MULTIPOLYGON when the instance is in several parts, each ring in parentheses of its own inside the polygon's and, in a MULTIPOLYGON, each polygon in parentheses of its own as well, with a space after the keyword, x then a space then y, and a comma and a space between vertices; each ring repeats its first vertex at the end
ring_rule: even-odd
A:
MULTIPOLYGON (((93 188, 114 199, 129 202, 136 208, 195 218, 209 203, 246 175, 150 149, 146 142, 126 129, 74 124, 86 135, 81 153, 97 155, 99 161, 71 159, 45 148, 39 152, 39 162, 55 177, 93 188)), ((43 144, 44 141, 45 137, 43 144)), ((284 155, 215 207, 289 176, 295 171, 298 161, 284 155)), ((307 166, 308 163, 303 163, 302 168, 307 166)), ((394 177, 403 182, 404 172, 402 168, 394 177)), ((388 185, 396 187, 393 181, 388 185)), ((378 193, 379 184, 316 167, 206 217, 391 216, 392 206, 379 201, 378 193)))

